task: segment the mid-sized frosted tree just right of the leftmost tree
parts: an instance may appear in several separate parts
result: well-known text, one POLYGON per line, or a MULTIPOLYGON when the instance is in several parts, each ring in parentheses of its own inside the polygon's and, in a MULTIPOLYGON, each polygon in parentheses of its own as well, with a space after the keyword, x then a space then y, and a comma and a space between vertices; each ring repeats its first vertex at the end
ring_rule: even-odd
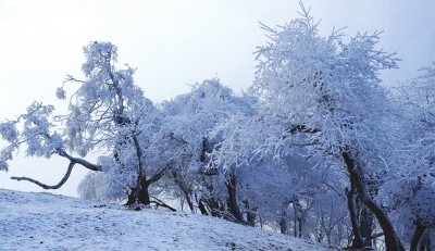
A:
MULTIPOLYGON (((159 160, 171 166, 166 178, 182 190, 190 210, 196 202, 202 213, 206 213, 204 208, 209 208, 209 213, 214 214, 226 204, 217 200, 232 198, 229 190, 233 186, 226 189, 227 194, 215 193, 225 190, 222 185, 226 181, 216 170, 209 168, 208 153, 221 139, 210 138, 208 134, 219 122, 232 115, 251 113, 254 101, 245 93, 235 95, 215 78, 196 84, 190 92, 161 104, 164 120, 153 148, 159 160)), ((232 214, 237 211, 231 205, 228 209, 232 214)))

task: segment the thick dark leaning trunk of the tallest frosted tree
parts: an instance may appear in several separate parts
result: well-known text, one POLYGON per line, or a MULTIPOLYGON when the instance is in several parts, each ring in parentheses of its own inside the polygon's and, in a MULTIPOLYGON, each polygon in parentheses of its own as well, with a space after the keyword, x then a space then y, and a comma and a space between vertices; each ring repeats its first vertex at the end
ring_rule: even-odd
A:
POLYGON ((377 222, 381 225, 381 228, 384 231, 385 237, 385 248, 387 251, 405 251, 405 248, 400 240, 397 238, 396 231, 393 228, 391 223, 389 222, 386 214, 382 211, 382 209, 372 200, 370 194, 365 191, 364 177, 361 174, 361 171, 355 165, 355 160, 350 158, 347 152, 343 152, 341 156, 346 163, 347 171, 350 176, 350 180, 356 185, 356 189, 358 194, 360 196, 361 201, 364 205, 372 211, 374 216, 377 218, 377 222))

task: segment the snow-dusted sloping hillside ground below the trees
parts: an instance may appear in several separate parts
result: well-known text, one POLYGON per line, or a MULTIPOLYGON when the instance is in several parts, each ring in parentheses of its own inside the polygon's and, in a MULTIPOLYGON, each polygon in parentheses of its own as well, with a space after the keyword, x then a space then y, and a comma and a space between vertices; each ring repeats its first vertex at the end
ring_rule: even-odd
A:
POLYGON ((0 189, 0 250, 327 250, 187 212, 0 189))

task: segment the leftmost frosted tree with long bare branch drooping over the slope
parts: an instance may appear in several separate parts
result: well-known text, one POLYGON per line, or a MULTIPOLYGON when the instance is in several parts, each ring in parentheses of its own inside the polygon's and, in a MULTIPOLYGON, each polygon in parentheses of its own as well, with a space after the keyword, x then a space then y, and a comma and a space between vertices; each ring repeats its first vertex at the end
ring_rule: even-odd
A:
MULTIPOLYGON (((64 178, 55 186, 47 186, 26 177, 45 189, 62 186, 78 163, 100 173, 90 173, 79 192, 85 198, 125 199, 128 203, 149 203, 148 186, 160 178, 164 167, 151 170, 146 163, 149 138, 159 127, 157 110, 134 85, 134 68, 116 70, 117 49, 110 42, 90 42, 84 47, 86 62, 82 66, 85 80, 67 75, 67 83, 78 84, 71 96, 69 113, 53 115, 52 105, 34 102, 27 113, 15 121, 0 124, 0 134, 9 142, 0 153, 0 166, 8 170, 12 152, 26 148, 28 156, 51 158, 59 154, 71 164, 64 178), (21 123, 23 122, 23 123, 21 123), (23 128, 20 129, 20 125, 23 128), (97 164, 82 158, 98 151, 97 164), (72 154, 82 158, 75 158, 72 154)), ((59 99, 65 99, 63 86, 59 99)))

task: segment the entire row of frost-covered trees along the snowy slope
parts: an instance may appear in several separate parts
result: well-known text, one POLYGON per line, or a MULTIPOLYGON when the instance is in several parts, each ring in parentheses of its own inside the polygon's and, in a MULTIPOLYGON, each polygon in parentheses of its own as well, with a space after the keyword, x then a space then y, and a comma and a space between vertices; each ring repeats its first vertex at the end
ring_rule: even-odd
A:
MULTIPOLYGON (((270 28, 252 86, 243 93, 213 78, 153 103, 117 70, 110 42, 84 48, 85 79, 69 112, 34 102, 0 123, 13 152, 70 160, 91 172, 83 198, 202 213, 335 247, 417 250, 435 226, 435 63, 388 89, 378 73, 395 53, 381 33, 321 37, 301 16, 270 28), (85 160, 98 152, 97 163, 85 160), (167 202, 167 201, 171 201, 167 202), (174 201, 176 202, 174 204, 174 201)), ((63 86, 57 96, 66 99, 63 86)), ((210 226, 212 227, 212 226, 210 226)))

